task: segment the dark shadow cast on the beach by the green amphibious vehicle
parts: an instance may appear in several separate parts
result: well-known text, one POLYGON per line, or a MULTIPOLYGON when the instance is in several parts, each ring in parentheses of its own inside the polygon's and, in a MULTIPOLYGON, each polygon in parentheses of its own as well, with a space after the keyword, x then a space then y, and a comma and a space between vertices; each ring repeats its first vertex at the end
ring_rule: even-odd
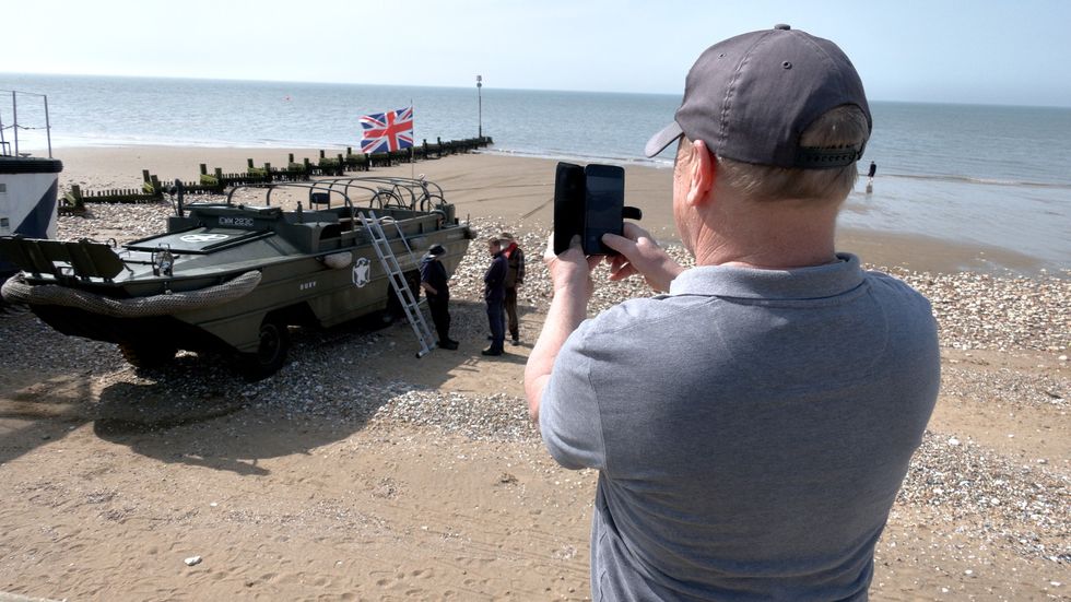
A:
MULTIPOLYGON (((483 304, 454 303, 451 312, 459 328, 471 330, 480 323, 479 332, 485 332, 483 304)), ((258 382, 243 379, 225 357, 208 354, 186 354, 164 368, 140 370, 148 382, 119 382, 101 393, 94 433, 165 463, 264 475, 269 471, 260 460, 309 453, 363 429, 402 381, 412 389, 434 389, 450 369, 473 356, 526 361, 508 349, 503 356, 481 357, 482 347, 468 342, 459 351, 433 351, 434 362, 417 359, 415 335, 404 321, 292 329, 291 337, 287 365, 258 382), (434 369, 421 370, 420 378, 407 377, 425 366, 434 369), (377 382, 381 389, 376 389, 377 382), (295 399, 273 399, 279 390, 295 399), (358 393, 345 398, 346 391, 358 393)), ((473 332, 464 337, 476 339, 473 332)))

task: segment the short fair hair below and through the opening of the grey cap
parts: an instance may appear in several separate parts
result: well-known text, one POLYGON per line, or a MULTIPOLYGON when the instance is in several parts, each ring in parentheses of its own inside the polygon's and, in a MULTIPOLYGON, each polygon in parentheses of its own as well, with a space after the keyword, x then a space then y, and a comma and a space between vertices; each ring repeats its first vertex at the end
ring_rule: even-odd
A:
MULTIPOLYGON (((869 137, 870 127, 862 109, 855 105, 841 105, 811 122, 800 137, 800 145, 861 147, 869 137)), ((722 184, 753 201, 796 199, 839 203, 848 197, 859 177, 855 163, 832 169, 802 169, 754 165, 719 156, 715 158, 722 184)))

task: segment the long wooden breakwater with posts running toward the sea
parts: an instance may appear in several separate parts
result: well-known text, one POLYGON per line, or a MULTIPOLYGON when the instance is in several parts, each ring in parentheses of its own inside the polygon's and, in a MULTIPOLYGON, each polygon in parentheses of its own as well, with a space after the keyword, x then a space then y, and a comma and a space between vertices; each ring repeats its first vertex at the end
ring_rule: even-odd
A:
POLYGON ((161 178, 151 174, 149 169, 142 169, 140 189, 82 190, 80 186, 73 185, 60 196, 58 211, 61 214, 81 213, 85 211, 85 203, 155 202, 163 198, 176 180, 183 182, 187 193, 222 194, 227 188, 238 185, 308 180, 316 176, 342 176, 348 172, 367 172, 374 167, 390 167, 396 163, 468 153, 493 143, 491 137, 484 135, 463 140, 436 139, 433 143, 428 143, 425 139, 421 145, 382 153, 354 153, 353 147, 348 146, 345 153, 337 153, 333 157, 327 156, 327 153, 321 150, 319 160, 315 163, 308 157, 295 162, 294 154, 290 153, 285 167, 273 167, 270 163, 258 167, 250 158, 247 160, 246 170, 239 173, 224 173, 219 167, 209 173, 208 165, 202 163, 198 179, 191 181, 181 178, 161 178))

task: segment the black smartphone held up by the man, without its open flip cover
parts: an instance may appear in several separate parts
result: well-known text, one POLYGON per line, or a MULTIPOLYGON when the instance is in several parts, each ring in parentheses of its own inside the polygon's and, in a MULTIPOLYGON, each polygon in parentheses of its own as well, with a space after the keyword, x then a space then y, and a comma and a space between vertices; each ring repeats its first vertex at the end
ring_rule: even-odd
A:
POLYGON ((615 165, 591 164, 584 168, 584 234, 580 244, 585 255, 615 255, 602 244, 607 233, 621 236, 624 228, 625 170, 615 165))

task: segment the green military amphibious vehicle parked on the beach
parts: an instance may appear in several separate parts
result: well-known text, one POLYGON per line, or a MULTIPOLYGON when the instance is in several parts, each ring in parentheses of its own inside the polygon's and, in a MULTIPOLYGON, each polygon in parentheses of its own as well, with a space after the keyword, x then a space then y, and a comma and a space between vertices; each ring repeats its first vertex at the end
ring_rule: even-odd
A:
POLYGON ((0 237, 0 256, 21 269, 3 297, 64 334, 117 343, 134 366, 225 350, 260 378, 284 364, 287 327, 389 311, 404 303, 390 273, 419 295, 421 255, 443 245, 452 273, 473 238, 423 179, 249 185, 188 204, 176 192, 167 232, 121 247, 0 237), (281 197, 296 206, 272 204, 281 197))

